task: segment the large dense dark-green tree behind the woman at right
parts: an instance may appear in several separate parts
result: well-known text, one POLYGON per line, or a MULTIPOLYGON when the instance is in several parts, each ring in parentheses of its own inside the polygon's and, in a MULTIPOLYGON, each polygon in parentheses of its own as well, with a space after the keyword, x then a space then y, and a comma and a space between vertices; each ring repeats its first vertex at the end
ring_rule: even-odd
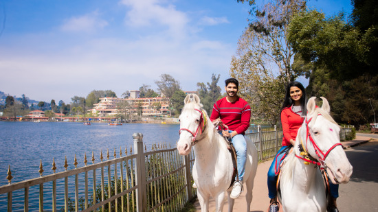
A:
POLYGON ((374 27, 362 32, 346 23, 343 13, 326 18, 305 10, 293 16, 289 42, 298 55, 294 63, 308 64, 298 65, 309 73, 308 93, 329 99, 335 121, 359 128, 371 120, 368 99, 378 99, 374 27))

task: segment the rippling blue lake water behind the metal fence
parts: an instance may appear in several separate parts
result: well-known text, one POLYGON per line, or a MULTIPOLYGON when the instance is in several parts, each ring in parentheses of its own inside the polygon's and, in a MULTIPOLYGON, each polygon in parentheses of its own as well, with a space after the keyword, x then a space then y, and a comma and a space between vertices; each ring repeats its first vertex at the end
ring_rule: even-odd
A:
MULTIPOLYGON (((250 128, 251 131, 256 127, 250 128)), ((110 158, 113 152, 122 156, 127 147, 133 148, 133 133, 141 132, 148 151, 155 143, 166 143, 174 148, 179 139, 178 124, 124 123, 123 126, 108 126, 107 123, 91 123, 86 126, 79 122, 26 122, 0 121, 0 186, 7 185, 8 165, 12 172, 12 183, 39 177, 39 164, 42 160, 43 176, 53 174, 52 160, 56 163, 56 172, 63 172, 65 156, 69 167, 74 168, 74 156, 78 167, 83 167, 84 156, 91 164, 91 154, 95 163, 100 162, 100 151, 107 160, 107 149, 110 158)), ((58 187, 63 187, 58 185, 58 187)), ((23 211, 23 191, 13 194, 14 211, 23 211)), ((47 195, 47 194, 46 194, 47 195)), ((51 196, 51 195, 47 195, 51 196)), ((58 202, 64 202, 63 194, 58 202)), ((0 195, 0 211, 6 210, 6 193, 0 195)), ((46 203, 51 200, 45 200, 46 203)), ((38 210, 38 188, 30 189, 30 210, 38 210), (34 193, 34 194, 33 194, 34 193)))

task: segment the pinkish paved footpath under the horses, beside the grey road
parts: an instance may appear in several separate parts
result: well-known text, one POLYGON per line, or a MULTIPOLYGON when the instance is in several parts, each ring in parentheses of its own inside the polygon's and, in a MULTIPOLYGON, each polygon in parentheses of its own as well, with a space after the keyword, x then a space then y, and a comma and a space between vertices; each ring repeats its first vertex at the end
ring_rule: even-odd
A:
MULTIPOLYGON (((368 134, 364 134, 368 135, 368 134)), ((370 137, 362 137, 360 134, 357 134, 356 139, 353 141, 344 141, 342 145, 344 148, 351 148, 357 145, 361 145, 362 143, 366 143, 370 140, 370 137)), ((377 140, 377 139, 376 139, 377 140)), ((253 199, 251 204, 251 211, 252 212, 265 212, 269 207, 269 197, 268 197, 268 188, 267 188, 267 172, 269 166, 271 165, 271 160, 263 161, 258 163, 256 177, 254 179, 254 190, 253 190, 253 199)), ((198 200, 194 202, 194 207, 196 207, 197 211, 201 211, 201 207, 199 206, 198 200)), ((225 206, 223 207, 223 211, 227 211, 228 203, 227 198, 225 200, 225 206)), ((245 191, 241 194, 239 198, 235 200, 234 204, 234 211, 246 211, 246 203, 245 203, 245 191)), ((215 211, 215 202, 214 199, 210 199, 210 212, 215 211)), ((345 210, 344 210, 345 211, 345 210)), ((280 209, 282 212, 282 209, 280 209)))

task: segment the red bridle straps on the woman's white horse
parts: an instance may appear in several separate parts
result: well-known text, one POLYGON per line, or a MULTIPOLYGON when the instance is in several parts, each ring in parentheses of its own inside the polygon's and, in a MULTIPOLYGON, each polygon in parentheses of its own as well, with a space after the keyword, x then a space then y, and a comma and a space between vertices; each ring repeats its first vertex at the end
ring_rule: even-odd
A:
MULTIPOLYGON (((320 115, 320 114, 319 114, 320 115)), ((311 137, 311 133, 310 133, 310 129, 309 129, 309 123, 310 121, 313 119, 313 117, 311 117, 311 119, 307 120, 307 117, 306 117, 306 148, 303 147, 304 149, 304 152, 305 154, 308 154, 307 152, 307 147, 308 147, 308 142, 310 140, 310 142, 312 143, 313 145, 313 148, 315 150, 315 154, 318 155, 318 158, 319 160, 318 161, 311 161, 309 158, 303 158, 301 156, 298 156, 296 154, 296 157, 297 158, 300 158, 302 159, 303 161, 306 161, 308 163, 313 163, 315 165, 318 165, 320 166, 322 169, 324 169, 326 167, 326 163, 324 162, 326 160, 326 157, 329 155, 329 153, 335 149, 335 147, 337 147, 338 145, 342 145, 340 142, 339 143, 335 143, 333 146, 331 146, 331 148, 329 148, 329 150, 327 150, 327 152, 324 154, 324 152, 322 152, 322 150, 320 150, 320 148, 318 147, 318 145, 316 145, 315 141, 313 140, 313 137, 311 137)), ((302 143, 302 140, 301 140, 301 143, 302 143)), ((303 144, 302 144, 303 146, 303 144)))

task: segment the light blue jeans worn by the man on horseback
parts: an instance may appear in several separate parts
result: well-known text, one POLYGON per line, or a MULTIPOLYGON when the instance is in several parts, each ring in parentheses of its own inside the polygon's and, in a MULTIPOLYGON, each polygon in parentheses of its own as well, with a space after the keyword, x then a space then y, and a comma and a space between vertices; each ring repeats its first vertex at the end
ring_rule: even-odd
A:
MULTIPOLYGON (((228 130, 232 132, 232 130, 228 130)), ((219 131, 222 134, 221 131, 219 131)), ((243 134, 236 134, 236 136, 231 139, 232 145, 236 150, 236 164, 238 165, 238 177, 239 180, 243 180, 245 173, 245 161, 247 161, 247 141, 245 141, 243 134)), ((236 178, 235 178, 236 180, 236 178)))

